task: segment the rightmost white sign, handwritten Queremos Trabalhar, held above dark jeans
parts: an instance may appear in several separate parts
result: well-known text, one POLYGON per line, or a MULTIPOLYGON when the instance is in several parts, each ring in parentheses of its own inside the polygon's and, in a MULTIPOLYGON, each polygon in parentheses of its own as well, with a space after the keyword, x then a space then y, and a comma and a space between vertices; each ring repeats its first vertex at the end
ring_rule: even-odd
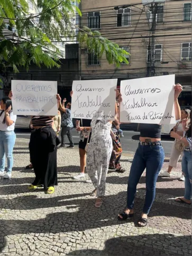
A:
POLYGON ((121 82, 121 122, 175 123, 175 75, 121 82))

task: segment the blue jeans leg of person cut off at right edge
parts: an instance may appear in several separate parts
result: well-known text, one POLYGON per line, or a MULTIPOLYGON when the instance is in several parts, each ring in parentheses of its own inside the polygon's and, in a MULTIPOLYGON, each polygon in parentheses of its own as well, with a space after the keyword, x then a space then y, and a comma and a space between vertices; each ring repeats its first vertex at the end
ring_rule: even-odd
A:
POLYGON ((182 172, 185 173, 185 199, 191 199, 191 179, 192 179, 192 164, 191 164, 191 152, 184 151, 182 157, 182 172))

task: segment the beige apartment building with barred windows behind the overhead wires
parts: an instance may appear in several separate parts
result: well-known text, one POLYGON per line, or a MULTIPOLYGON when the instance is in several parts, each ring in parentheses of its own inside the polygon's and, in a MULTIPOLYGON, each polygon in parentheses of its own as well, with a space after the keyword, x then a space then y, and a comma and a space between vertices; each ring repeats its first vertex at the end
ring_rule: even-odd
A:
MULTIPOLYGON (((81 0, 81 28, 85 25, 118 43, 130 55, 129 65, 109 65, 81 49, 81 79, 118 78, 118 82, 148 76, 149 46, 154 38, 154 75, 175 74, 176 82, 191 84, 191 2, 164 1, 156 6, 152 28, 151 4, 142 0, 81 0)), ((191 88, 191 87, 190 87, 191 88)))

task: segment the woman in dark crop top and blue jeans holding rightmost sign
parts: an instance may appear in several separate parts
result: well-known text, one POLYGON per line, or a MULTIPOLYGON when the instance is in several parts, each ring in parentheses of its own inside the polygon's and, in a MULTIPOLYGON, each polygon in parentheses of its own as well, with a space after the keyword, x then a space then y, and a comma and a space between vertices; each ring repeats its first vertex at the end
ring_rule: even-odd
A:
MULTIPOLYGON (((175 85, 175 114, 176 120, 181 117, 178 96, 182 91, 180 84, 175 85)), ((132 218, 134 215, 134 198, 136 186, 146 168, 146 194, 143 212, 138 220, 138 226, 144 227, 148 223, 148 214, 156 196, 156 182, 164 161, 164 151, 161 144, 161 125, 148 123, 140 124, 140 142, 131 165, 127 186, 127 205, 123 213, 118 215, 119 220, 132 218)))

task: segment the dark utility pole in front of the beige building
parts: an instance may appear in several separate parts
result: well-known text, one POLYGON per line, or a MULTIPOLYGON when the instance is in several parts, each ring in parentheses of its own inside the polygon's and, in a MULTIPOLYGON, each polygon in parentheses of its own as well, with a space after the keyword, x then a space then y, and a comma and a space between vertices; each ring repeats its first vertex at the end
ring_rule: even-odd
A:
POLYGON ((155 67, 154 67, 154 55, 155 55, 155 49, 154 49, 154 34, 156 32, 156 16, 158 12, 158 4, 151 4, 151 12, 150 12, 150 20, 152 18, 152 24, 150 28, 150 38, 149 38, 149 45, 148 45, 148 69, 147 69, 147 76, 154 76, 156 73, 155 67))

